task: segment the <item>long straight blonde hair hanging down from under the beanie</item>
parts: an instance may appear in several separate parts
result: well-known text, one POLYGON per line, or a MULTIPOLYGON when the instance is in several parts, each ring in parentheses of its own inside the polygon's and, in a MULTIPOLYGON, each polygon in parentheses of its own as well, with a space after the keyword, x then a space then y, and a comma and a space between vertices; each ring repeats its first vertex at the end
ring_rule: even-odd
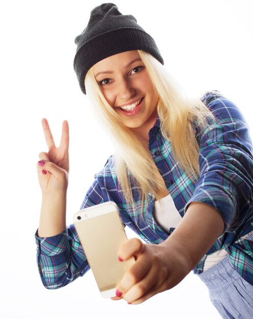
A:
MULTIPOLYGON (((158 95, 157 112, 161 131, 171 143, 175 162, 179 162, 190 178, 197 179, 199 146, 194 125, 205 129, 209 126, 208 120, 214 120, 214 117, 200 99, 186 97, 159 61, 147 52, 138 52, 158 95)), ((134 203, 133 186, 140 189, 142 200, 147 199, 148 193, 158 197, 159 190, 163 190, 165 184, 149 152, 148 141, 121 123, 120 116, 109 105, 97 84, 92 68, 86 75, 85 87, 100 120, 109 129, 114 141, 116 175, 126 203, 134 203)))

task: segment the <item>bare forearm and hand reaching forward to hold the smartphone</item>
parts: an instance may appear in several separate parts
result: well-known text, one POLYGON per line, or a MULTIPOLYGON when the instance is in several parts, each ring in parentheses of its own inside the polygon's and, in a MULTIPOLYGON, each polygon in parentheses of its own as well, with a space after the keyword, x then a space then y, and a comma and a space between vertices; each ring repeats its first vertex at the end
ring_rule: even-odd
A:
POLYGON ((192 202, 180 224, 159 245, 144 245, 138 238, 125 242, 119 256, 135 256, 135 264, 116 286, 118 296, 139 304, 180 283, 222 234, 224 221, 213 206, 192 202), (205 214, 204 214, 205 212, 205 214))

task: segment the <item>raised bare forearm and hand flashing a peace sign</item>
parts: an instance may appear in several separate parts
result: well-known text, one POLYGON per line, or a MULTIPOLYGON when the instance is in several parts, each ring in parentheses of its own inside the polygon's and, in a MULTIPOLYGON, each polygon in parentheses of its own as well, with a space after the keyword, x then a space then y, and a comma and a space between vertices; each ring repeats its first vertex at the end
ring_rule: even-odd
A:
POLYGON ((46 119, 42 119, 48 152, 39 154, 37 163, 42 205, 38 236, 49 237, 66 228, 66 195, 69 172, 69 129, 68 122, 62 123, 60 146, 57 148, 46 119))

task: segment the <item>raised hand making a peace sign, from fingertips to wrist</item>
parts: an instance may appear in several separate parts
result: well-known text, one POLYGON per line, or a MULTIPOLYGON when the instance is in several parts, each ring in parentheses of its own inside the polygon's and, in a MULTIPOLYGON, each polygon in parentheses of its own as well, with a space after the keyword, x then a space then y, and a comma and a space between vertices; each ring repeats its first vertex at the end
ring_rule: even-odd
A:
POLYGON ((52 194, 57 192, 66 193, 68 187, 69 172, 69 129, 68 122, 62 123, 62 136, 60 146, 57 148, 48 122, 42 119, 48 152, 39 154, 40 161, 37 164, 39 184, 42 194, 52 194))

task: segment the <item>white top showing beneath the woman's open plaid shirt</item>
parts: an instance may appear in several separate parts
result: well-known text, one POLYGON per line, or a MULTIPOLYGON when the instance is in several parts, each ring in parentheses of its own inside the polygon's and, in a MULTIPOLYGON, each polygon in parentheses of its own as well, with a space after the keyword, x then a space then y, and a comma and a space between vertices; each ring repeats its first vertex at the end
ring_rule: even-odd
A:
MULTIPOLYGON (((169 232, 171 227, 176 228, 182 220, 182 217, 179 214, 178 209, 176 209, 170 194, 155 201, 155 218, 159 225, 161 225, 167 232, 169 232)), ((227 254, 228 253, 224 249, 221 249, 211 255, 208 255, 205 260, 204 271, 221 261, 221 259, 223 259, 227 254)))

